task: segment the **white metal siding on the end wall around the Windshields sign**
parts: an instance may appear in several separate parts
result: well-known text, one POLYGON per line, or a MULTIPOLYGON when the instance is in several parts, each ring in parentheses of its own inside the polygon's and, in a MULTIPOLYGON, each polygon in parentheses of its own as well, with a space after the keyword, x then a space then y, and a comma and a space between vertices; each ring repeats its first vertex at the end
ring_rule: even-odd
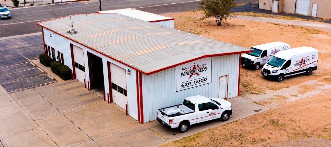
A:
POLYGON ((151 74, 142 74, 144 122, 156 119, 160 108, 181 104, 185 97, 203 95, 218 97, 219 77, 228 76, 227 97, 238 95, 239 54, 212 58, 212 83, 176 92, 175 67, 151 74))

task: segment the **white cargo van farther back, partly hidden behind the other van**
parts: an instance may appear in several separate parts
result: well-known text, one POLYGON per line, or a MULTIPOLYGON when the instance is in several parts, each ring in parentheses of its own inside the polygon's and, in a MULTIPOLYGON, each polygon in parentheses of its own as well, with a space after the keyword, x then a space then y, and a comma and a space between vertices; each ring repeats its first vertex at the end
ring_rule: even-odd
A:
POLYGON ((258 70, 260 65, 267 63, 273 55, 279 51, 290 49, 290 45, 284 42, 271 42, 251 47, 252 53, 246 53, 241 56, 241 65, 244 67, 253 67, 258 70))

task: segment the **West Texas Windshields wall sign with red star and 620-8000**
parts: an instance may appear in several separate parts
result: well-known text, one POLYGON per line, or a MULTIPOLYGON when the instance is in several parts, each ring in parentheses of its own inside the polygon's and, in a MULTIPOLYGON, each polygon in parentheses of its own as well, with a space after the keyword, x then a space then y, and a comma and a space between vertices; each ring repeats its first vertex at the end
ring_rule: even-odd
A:
POLYGON ((176 66, 176 92, 212 83, 212 57, 176 66))

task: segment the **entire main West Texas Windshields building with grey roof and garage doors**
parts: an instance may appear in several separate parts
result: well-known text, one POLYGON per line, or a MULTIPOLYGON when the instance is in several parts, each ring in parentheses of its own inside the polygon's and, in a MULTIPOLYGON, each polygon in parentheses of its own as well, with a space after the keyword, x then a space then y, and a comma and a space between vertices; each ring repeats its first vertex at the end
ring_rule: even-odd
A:
POLYGON ((119 14, 80 14, 37 24, 45 54, 141 123, 188 96, 238 96, 240 56, 252 52, 119 14), (69 26, 73 21, 76 33, 69 26))

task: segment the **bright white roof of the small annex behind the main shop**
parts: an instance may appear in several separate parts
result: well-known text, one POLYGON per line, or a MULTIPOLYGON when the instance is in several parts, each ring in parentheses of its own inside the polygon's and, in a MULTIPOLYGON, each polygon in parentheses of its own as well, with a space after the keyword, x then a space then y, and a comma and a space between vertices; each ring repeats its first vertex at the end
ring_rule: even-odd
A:
POLYGON ((117 10, 106 10, 106 11, 96 11, 96 13, 107 14, 107 13, 117 13, 121 15, 125 15, 131 18, 137 18, 144 21, 160 21, 160 20, 169 20, 173 18, 165 17, 162 15, 157 15, 137 9, 126 8, 126 9, 117 9, 117 10))

